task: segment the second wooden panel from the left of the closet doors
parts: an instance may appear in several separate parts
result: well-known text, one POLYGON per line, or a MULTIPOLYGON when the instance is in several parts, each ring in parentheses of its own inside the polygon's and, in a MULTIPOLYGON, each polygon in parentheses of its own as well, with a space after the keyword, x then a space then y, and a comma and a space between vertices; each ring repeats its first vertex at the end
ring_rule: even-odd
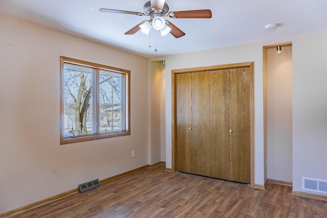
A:
POLYGON ((192 73, 192 173, 209 176, 209 72, 192 73))

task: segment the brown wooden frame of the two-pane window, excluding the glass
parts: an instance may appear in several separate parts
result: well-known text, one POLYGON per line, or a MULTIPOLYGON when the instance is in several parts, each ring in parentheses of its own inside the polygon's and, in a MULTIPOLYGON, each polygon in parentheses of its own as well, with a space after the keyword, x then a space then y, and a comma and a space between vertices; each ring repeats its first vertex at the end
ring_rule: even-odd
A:
POLYGON ((105 139, 111 137, 119 137, 119 136, 127 136, 130 135, 130 71, 105 66, 103 64, 92 63, 84 60, 78 60, 74 58, 60 56, 60 145, 69 144, 69 143, 76 143, 76 142, 84 142, 90 140, 97 140, 97 139, 105 139), (87 134, 87 135, 80 135, 77 137, 72 136, 64 136, 64 77, 63 77, 63 68, 64 64, 73 64, 77 67, 84 67, 84 68, 92 68, 95 70, 94 76, 94 114, 95 114, 95 133, 87 134), (122 107, 122 119, 124 129, 117 130, 108 133, 100 133, 100 122, 99 121, 99 75, 100 71, 109 71, 110 73, 121 74, 123 75, 123 107, 122 107))

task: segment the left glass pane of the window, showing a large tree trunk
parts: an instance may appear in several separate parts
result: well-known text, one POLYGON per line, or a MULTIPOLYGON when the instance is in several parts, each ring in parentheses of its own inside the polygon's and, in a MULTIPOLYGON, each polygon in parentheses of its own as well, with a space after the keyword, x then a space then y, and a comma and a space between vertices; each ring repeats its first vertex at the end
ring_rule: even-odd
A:
POLYGON ((64 64, 64 136, 92 134, 94 70, 64 64))

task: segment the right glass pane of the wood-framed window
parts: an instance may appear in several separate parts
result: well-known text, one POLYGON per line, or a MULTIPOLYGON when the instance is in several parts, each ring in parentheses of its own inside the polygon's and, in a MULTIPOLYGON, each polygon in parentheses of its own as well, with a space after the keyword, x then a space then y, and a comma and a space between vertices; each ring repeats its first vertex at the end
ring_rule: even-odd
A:
POLYGON ((100 71, 100 132, 123 130, 123 75, 100 71))

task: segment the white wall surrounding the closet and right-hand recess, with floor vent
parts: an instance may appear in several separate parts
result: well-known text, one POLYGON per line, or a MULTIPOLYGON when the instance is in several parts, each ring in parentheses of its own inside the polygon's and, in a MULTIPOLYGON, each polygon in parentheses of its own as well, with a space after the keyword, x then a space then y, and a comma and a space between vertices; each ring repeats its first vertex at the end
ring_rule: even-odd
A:
POLYGON ((254 183, 264 185, 263 46, 292 42, 293 47, 293 190, 301 177, 327 180, 327 32, 256 42, 159 58, 166 59, 166 167, 172 160, 171 71, 254 61, 254 183))

